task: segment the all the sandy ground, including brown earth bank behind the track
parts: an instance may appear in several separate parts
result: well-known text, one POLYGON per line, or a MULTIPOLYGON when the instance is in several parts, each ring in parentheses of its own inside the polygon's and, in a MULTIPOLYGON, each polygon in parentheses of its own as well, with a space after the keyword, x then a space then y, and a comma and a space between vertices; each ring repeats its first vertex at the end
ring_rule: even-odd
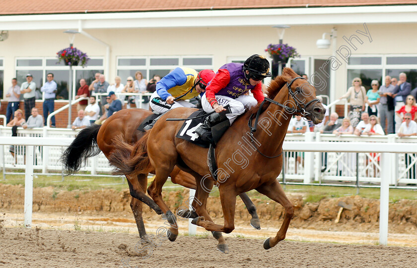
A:
MULTIPOLYGON (((21 227, 23 194, 22 186, 0 185, 0 268, 417 267, 414 200, 390 204, 388 244, 407 247, 387 247, 375 245, 378 200, 353 196, 309 204, 300 196, 291 196, 296 213, 288 229, 288 240, 268 251, 262 247, 264 238, 260 238, 275 235, 282 221, 282 209, 254 199, 262 228, 255 230, 249 226, 249 216, 238 200, 236 229, 225 235, 230 253, 222 254, 208 232, 198 229, 199 236, 184 235, 186 221, 179 222, 181 235, 175 242, 155 238, 152 241, 157 246, 138 243, 128 191, 55 192, 52 187, 35 188, 31 229, 21 227), (340 200, 352 204, 353 209, 344 211, 336 224, 340 200)), ((172 207, 178 207, 187 196, 188 191, 174 191, 165 199, 172 207)), ((217 202, 216 198, 209 199, 209 214, 215 222, 221 222, 217 202)), ((160 216, 148 208, 143 216, 148 234, 155 235, 156 229, 164 226, 160 216)))

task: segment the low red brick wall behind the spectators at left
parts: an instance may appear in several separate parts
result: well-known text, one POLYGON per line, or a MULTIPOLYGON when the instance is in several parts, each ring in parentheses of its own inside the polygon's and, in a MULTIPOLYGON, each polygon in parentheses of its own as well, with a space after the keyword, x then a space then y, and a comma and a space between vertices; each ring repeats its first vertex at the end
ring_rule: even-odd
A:
MULTIPOLYGON (((55 109, 59 109, 68 103, 65 102, 55 102, 55 109)), ((38 108, 39 114, 43 116, 43 102, 36 101, 35 106, 38 108)), ((131 104, 131 107, 134 108, 135 104, 131 104)), ((23 111, 23 117, 24 117, 24 103, 20 102, 19 108, 23 111)), ((126 108, 126 104, 123 105, 123 108, 126 108)), ((1 107, 0 107, 0 114, 5 115, 7 109, 7 101, 1 101, 1 107)), ((71 108, 71 123, 75 120, 77 117, 77 105, 74 104, 71 108)), ((65 109, 61 112, 59 112, 57 115, 55 115, 55 121, 56 121, 56 127, 60 128, 66 128, 68 125, 68 109, 65 109)), ((0 119, 0 124, 3 125, 3 120, 0 119)))

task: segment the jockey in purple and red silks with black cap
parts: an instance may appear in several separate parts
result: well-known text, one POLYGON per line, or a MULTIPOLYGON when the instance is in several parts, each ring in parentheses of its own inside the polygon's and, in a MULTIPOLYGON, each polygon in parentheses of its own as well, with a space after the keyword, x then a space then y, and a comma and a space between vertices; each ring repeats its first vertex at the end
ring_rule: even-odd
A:
MULTIPOLYGON (((270 77, 269 61, 263 55, 254 54, 245 63, 226 63, 219 68, 201 98, 204 111, 215 113, 208 116, 196 133, 204 141, 211 142, 211 127, 228 120, 229 125, 237 116, 264 101, 261 81, 270 77), (253 97, 247 95, 251 91, 253 97), (228 105, 228 109, 224 106, 228 105)), ((225 129, 223 130, 225 131, 225 129)))

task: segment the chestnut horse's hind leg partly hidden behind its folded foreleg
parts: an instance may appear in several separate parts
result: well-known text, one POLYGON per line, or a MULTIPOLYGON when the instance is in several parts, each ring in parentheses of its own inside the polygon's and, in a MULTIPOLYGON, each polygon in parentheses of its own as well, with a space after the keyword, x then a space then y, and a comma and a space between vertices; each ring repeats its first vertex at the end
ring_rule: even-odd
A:
MULTIPOLYGON (((207 191, 207 189, 211 189, 214 182, 207 179, 202 180, 200 175, 197 175, 196 181, 199 183, 199 185, 204 185, 204 188, 197 187, 196 196, 191 206, 196 210, 198 216, 203 216, 206 220, 213 222, 209 216, 209 213, 207 212, 207 199, 209 197, 209 191, 207 191)), ((217 250, 223 253, 229 253, 229 247, 227 246, 226 240, 224 239, 221 232, 211 231, 211 234, 215 239, 217 239, 217 250)))

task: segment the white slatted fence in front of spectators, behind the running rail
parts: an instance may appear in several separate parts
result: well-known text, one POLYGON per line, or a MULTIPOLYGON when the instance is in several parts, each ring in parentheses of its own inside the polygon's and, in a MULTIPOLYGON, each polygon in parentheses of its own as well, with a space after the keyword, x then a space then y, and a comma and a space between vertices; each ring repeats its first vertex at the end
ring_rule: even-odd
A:
MULTIPOLYGON (((23 129, 18 128, 17 135, 20 137, 52 137, 52 138, 74 138, 79 130, 72 130, 66 128, 34 128, 23 129)), ((0 126, 0 136, 10 137, 11 127, 0 126)), ((355 182, 370 182, 379 183, 381 180, 381 164, 380 153, 372 154, 366 153, 347 153, 340 150, 340 146, 351 142, 380 142, 393 144, 409 144, 415 146, 417 137, 398 138, 395 134, 387 136, 355 136, 342 135, 335 136, 333 134, 320 133, 305 133, 305 134, 287 134, 285 141, 293 142, 331 142, 335 147, 336 152, 329 151, 324 153, 319 152, 292 152, 284 153, 283 172, 279 175, 279 179, 286 182, 302 182, 313 183, 317 181, 337 182, 337 181, 351 181, 355 182), (357 168, 356 168, 356 163, 357 168), (356 169, 359 171, 356 173, 356 169)), ((0 148, 0 161, 3 167, 3 174, 5 168, 7 169, 22 169, 25 167, 24 162, 24 148, 16 146, 15 158, 8 152, 9 148, 0 148)), ((42 173, 62 171, 62 164, 59 159, 62 154, 62 147, 49 146, 42 148, 40 146, 35 148, 35 160, 33 167, 35 170, 42 170, 42 173)), ((416 150, 417 152, 417 150, 416 150)), ((390 184, 415 184, 417 185, 417 157, 415 154, 395 154, 392 157, 393 174, 390 184)), ((89 172, 90 174, 97 174, 97 172, 110 172, 111 167, 106 157, 100 153, 94 158, 87 160, 86 165, 81 171, 89 172)), ((4 177, 4 175, 3 175, 4 177)))

